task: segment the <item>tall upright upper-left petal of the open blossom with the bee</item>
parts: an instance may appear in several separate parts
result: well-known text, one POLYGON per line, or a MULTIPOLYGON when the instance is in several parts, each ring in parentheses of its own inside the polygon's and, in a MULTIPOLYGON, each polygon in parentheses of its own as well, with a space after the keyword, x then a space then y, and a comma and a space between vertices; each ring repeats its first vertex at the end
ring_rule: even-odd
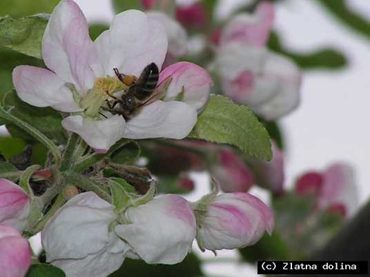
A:
POLYGON ((42 56, 50 70, 83 94, 93 88, 95 76, 102 76, 88 23, 74 1, 61 1, 52 12, 43 34, 42 56))

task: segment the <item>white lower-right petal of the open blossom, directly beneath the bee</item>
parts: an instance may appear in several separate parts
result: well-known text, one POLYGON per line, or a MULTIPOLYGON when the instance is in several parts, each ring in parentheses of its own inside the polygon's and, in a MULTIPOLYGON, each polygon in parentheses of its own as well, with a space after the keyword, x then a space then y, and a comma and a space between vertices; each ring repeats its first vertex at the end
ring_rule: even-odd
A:
POLYGON ((126 123, 127 139, 184 139, 197 122, 197 111, 179 101, 155 101, 126 123))

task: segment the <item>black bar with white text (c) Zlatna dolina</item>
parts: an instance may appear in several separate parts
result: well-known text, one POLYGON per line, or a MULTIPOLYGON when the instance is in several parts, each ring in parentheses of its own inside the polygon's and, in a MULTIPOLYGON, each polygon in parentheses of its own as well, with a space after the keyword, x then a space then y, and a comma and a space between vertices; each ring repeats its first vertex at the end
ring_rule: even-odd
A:
POLYGON ((368 261, 259 260, 257 274, 368 274, 368 261))

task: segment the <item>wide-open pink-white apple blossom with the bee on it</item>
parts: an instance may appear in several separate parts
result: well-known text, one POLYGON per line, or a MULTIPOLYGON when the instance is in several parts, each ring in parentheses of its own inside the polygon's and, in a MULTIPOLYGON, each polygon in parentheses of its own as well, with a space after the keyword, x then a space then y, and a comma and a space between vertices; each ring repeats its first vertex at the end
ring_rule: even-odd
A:
POLYGON ((127 88, 113 69, 139 76, 146 65, 155 63, 160 70, 167 45, 162 24, 138 10, 117 14, 110 29, 93 42, 77 4, 63 0, 43 34, 42 56, 48 69, 18 66, 13 71, 14 87, 30 105, 72 113, 62 125, 97 152, 106 152, 122 137, 182 139, 206 105, 212 83, 209 74, 193 63, 162 71, 158 88, 164 90, 172 80, 164 97, 142 107, 130 120, 101 111, 111 95, 127 88))

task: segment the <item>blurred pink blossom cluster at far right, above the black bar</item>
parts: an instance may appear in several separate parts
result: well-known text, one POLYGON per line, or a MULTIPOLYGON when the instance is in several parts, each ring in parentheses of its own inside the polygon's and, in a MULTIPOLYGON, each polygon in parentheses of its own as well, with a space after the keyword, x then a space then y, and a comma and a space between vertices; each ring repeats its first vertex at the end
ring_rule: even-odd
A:
POLYGON ((323 172, 302 174, 295 183, 295 193, 315 197, 319 209, 351 216, 358 205, 358 192, 353 168, 345 163, 334 163, 323 172))

